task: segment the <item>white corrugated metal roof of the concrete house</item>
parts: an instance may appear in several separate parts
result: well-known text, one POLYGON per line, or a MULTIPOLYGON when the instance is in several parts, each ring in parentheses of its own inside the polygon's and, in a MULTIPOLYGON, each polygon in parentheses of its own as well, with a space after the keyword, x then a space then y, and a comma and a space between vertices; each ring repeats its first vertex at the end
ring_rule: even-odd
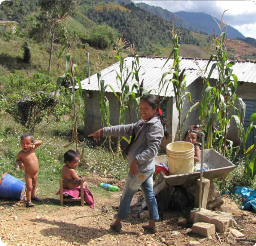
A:
MULTIPOLYGON (((159 57, 140 57, 140 82, 144 79, 144 87, 147 90, 154 90, 155 94, 159 93, 158 85, 161 81, 162 74, 166 73, 170 70, 171 66, 173 65, 173 59, 170 59, 164 68, 162 68, 166 62, 167 58, 159 58, 159 57)), ((128 56, 125 58, 125 65, 131 71, 132 61, 134 61, 134 57, 128 56)), ((210 71, 212 64, 215 61, 211 61, 208 66, 207 72, 210 71)), ((192 59, 192 58, 183 58, 180 62, 180 69, 186 69, 186 85, 193 83, 198 77, 200 77, 201 70, 204 70, 207 66, 208 60, 206 59, 192 59)), ((256 83, 256 63, 250 61, 238 61, 232 67, 234 74, 238 77, 240 82, 249 82, 249 83, 256 83)), ((110 84, 115 92, 121 92, 121 85, 118 80, 116 80, 116 72, 120 73, 119 71, 119 62, 111 65, 110 67, 105 68, 101 71, 101 78, 105 80, 105 85, 110 84)), ((125 72, 126 73, 126 72, 125 72)), ((165 79, 171 79, 172 74, 168 74, 165 79)), ((206 74, 207 76, 207 74, 206 74)), ((217 68, 213 71, 211 75, 212 79, 218 78, 218 71, 217 68)), ((89 79, 85 79, 81 81, 82 89, 86 90, 99 90, 98 88, 98 78, 97 74, 94 74, 90 77, 90 84, 88 83, 89 79)), ((132 76, 130 76, 128 80, 128 84, 130 89, 132 84, 137 83, 135 78, 132 80, 132 76)), ((165 88, 167 85, 165 86, 165 88)), ((78 86, 76 86, 78 88, 78 86)), ((107 92, 112 92, 110 87, 107 87, 107 92)), ((164 96, 165 90, 162 90, 160 96, 164 96)), ((173 84, 170 83, 168 86, 168 91, 166 96, 174 96, 173 84)))

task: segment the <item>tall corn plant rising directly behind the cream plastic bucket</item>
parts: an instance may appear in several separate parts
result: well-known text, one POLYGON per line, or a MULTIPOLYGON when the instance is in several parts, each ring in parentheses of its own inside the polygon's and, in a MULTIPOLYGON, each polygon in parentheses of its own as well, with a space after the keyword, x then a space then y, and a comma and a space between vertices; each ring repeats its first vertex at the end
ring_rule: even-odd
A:
MULTIPOLYGON (((176 101, 176 108, 178 111, 178 117, 179 117, 179 124, 178 124, 178 138, 181 141, 182 139, 182 127, 183 124, 181 124, 181 119, 182 119, 182 108, 183 104, 185 102, 186 97, 189 97, 189 100, 191 100, 191 94, 190 92, 186 91, 186 75, 185 75, 185 69, 182 71, 180 70, 180 61, 181 57, 178 56, 180 45, 179 45, 179 37, 177 35, 177 32, 179 30, 174 30, 174 22, 173 22, 173 29, 171 30, 172 36, 173 36, 173 49, 171 51, 171 54, 169 55, 167 61, 165 62, 164 66, 167 64, 167 62, 170 60, 170 58, 173 56, 173 66, 171 69, 164 73, 162 75, 161 81, 159 82, 158 89, 159 89, 159 94, 161 91, 165 88, 165 95, 168 90, 169 83, 173 84, 173 89, 174 89, 174 94, 175 94, 175 101, 176 101), (165 77, 168 74, 173 74, 172 79, 165 79, 165 77), (164 80, 165 79, 165 80, 164 80)), ((162 68, 164 68, 164 66, 162 68)), ((165 97, 164 95, 164 97, 165 97)))

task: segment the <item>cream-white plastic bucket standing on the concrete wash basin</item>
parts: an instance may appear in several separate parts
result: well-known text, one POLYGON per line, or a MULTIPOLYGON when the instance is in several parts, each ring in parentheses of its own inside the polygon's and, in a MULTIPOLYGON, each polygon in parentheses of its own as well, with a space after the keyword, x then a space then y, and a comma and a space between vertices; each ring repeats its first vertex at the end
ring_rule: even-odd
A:
POLYGON ((189 142, 167 144, 169 174, 192 173, 194 169, 195 147, 189 142))

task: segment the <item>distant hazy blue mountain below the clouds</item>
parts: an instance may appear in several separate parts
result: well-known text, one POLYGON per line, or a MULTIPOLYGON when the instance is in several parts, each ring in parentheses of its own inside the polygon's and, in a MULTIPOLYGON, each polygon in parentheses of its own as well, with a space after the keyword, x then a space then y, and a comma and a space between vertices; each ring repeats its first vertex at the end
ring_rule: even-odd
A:
MULTIPOLYGON (((200 30, 206 32, 207 34, 213 35, 213 28, 215 29, 215 34, 220 35, 220 29, 217 25, 216 21, 220 24, 220 20, 215 18, 216 21, 206 13, 196 13, 196 12, 185 12, 179 11, 175 12, 180 18, 185 19, 192 27, 197 27, 200 30), (203 21, 202 21, 203 20, 203 21)), ((225 18, 224 18, 225 19, 225 18)), ((241 34, 237 29, 234 27, 228 26, 228 37, 231 39, 237 38, 245 38, 243 34, 241 34)))

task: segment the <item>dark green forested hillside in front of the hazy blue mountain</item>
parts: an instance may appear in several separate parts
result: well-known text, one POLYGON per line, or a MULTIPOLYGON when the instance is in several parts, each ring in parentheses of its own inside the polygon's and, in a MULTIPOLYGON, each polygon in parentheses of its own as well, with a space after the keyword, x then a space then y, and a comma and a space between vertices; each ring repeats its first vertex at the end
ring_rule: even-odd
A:
MULTIPOLYGON (((172 29, 171 22, 152 15, 136 7, 133 3, 126 4, 124 7, 128 10, 104 7, 101 11, 95 5, 85 8, 84 14, 97 24, 107 24, 115 28, 131 43, 136 43, 139 49, 143 49, 152 43, 161 44, 162 46, 171 43, 172 36, 167 31, 172 29)), ((199 45, 198 40, 191 35, 189 30, 180 28, 179 35, 181 43, 199 45)))

